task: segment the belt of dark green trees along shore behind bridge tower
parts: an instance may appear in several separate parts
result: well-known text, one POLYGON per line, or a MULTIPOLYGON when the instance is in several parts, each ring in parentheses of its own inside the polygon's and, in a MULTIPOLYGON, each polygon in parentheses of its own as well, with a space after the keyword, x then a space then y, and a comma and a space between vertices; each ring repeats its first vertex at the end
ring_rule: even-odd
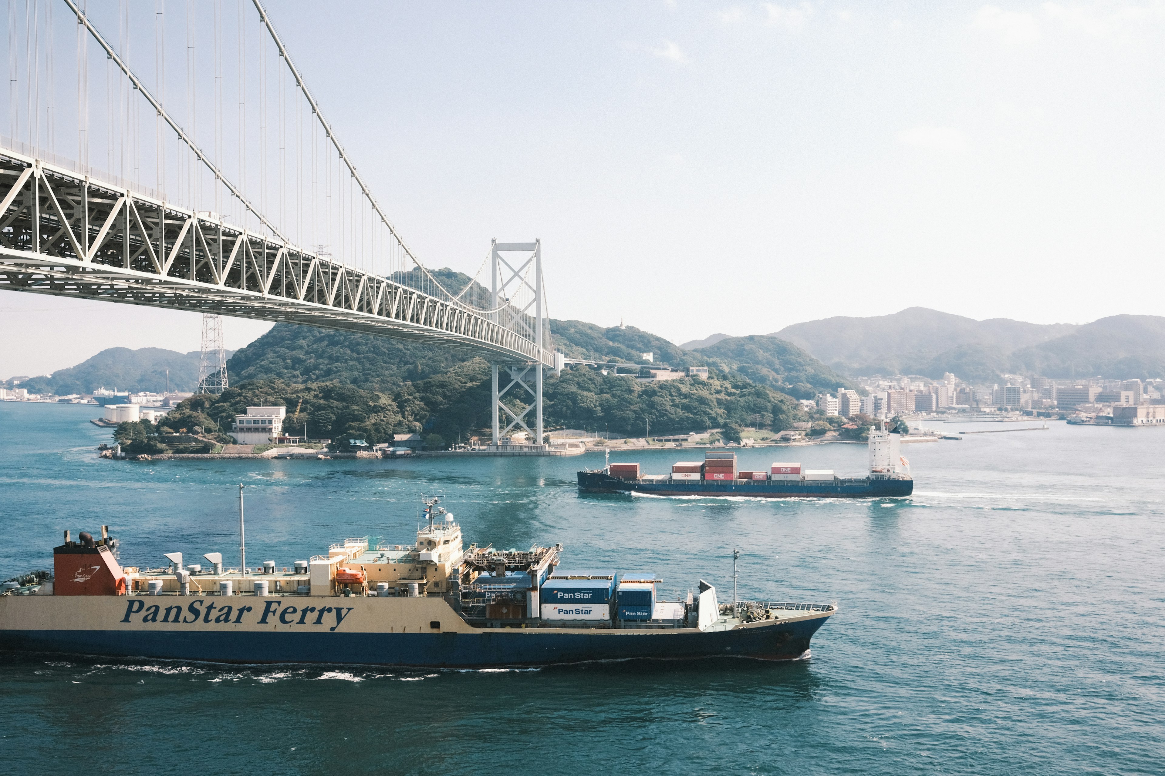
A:
MULTIPOLYGON (((375 444, 390 441, 393 433, 415 432, 423 434, 430 447, 440 447, 474 436, 488 439, 489 393, 489 365, 473 358, 390 394, 339 383, 246 380, 219 397, 188 399, 164 422, 219 434, 228 432, 234 415, 247 406, 283 405, 288 408, 283 428, 289 434, 362 439, 375 444), (433 435, 436 441, 430 439, 433 435)), ((648 425, 652 434, 686 434, 727 425, 784 429, 806 418, 797 401, 784 393, 715 375, 707 380, 642 383, 592 369, 567 370, 560 377, 546 377, 543 396, 546 428, 628 436, 647 434, 648 425)))

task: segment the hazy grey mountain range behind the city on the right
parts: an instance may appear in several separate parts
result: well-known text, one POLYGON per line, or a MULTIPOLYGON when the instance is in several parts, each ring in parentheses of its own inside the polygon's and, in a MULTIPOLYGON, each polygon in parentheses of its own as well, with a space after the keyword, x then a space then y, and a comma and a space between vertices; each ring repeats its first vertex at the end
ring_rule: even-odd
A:
POLYGON ((995 382, 1001 373, 1054 378, 1165 377, 1165 318, 1114 315, 1092 323, 976 321, 925 307, 892 315, 826 318, 772 336, 842 375, 920 375, 995 382))

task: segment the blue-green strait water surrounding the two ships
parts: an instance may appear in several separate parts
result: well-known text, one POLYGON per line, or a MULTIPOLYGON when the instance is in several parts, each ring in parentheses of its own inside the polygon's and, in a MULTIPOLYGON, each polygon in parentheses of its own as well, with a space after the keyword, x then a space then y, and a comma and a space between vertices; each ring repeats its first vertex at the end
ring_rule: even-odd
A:
MULTIPOLYGON (((1165 773, 1165 429, 903 448, 909 500, 584 496, 564 460, 101 461, 93 407, 0 403, 0 578, 108 524, 127 564, 289 565, 410 542, 421 494, 466 541, 563 542, 740 597, 838 601, 792 663, 405 671, 0 655, 0 774, 1165 773), (234 561, 238 562, 236 560, 234 561)), ((1012 425, 944 425, 984 430, 1012 425)), ((662 472, 689 451, 616 453, 662 472)), ((857 474, 861 446, 748 450, 857 474)))

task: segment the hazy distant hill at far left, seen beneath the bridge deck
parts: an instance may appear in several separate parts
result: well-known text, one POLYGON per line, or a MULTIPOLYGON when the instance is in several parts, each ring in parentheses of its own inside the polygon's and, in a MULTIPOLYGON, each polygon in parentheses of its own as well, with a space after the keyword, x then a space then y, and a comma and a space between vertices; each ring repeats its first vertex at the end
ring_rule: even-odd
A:
MULTIPOLYGON (((228 350, 227 357, 234 351, 228 350)), ((107 348, 76 366, 52 375, 33 377, 23 383, 30 393, 92 393, 99 387, 161 393, 193 391, 198 386, 199 353, 178 353, 164 348, 107 348), (167 376, 169 370, 169 377, 167 376)))

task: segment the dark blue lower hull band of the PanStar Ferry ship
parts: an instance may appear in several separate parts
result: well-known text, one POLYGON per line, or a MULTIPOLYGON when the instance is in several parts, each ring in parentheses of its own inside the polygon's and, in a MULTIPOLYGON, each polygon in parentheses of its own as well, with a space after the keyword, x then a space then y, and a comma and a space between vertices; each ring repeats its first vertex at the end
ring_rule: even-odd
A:
POLYGON ((352 663, 414 668, 544 665, 596 660, 742 656, 795 660, 828 615, 732 631, 485 629, 481 633, 0 631, 0 648, 225 663, 352 663), (341 638, 337 638, 341 636, 341 638))

